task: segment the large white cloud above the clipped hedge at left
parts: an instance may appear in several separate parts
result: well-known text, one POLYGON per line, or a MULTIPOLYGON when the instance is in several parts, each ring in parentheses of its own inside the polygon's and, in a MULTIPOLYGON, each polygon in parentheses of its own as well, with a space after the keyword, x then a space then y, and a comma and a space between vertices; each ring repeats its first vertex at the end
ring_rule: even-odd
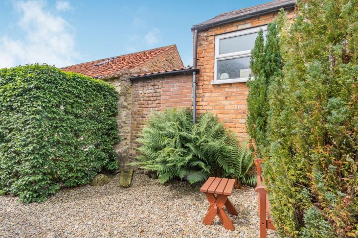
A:
POLYGON ((15 4, 23 33, 18 39, 0 34, 0 68, 27 63, 71 65, 78 57, 71 26, 45 9, 42 1, 15 4))

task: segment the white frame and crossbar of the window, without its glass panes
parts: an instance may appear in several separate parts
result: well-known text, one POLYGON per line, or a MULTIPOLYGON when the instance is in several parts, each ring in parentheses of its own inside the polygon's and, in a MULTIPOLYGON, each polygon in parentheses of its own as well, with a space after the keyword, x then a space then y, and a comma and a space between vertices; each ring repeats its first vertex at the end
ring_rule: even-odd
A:
POLYGON ((248 57, 248 56, 251 56, 251 51, 252 51, 252 49, 251 49, 248 51, 239 51, 239 52, 233 52, 233 53, 220 55, 219 54, 220 53, 220 40, 225 39, 225 38, 234 37, 234 36, 241 36, 241 35, 256 33, 256 32, 259 32, 261 29, 263 31, 266 31, 267 25, 215 36, 214 81, 212 82, 212 84, 241 83, 241 82, 247 82, 249 80, 249 78, 221 79, 221 80, 217 79, 217 61, 226 60, 226 59, 235 59, 235 58, 241 58, 241 57, 248 57))

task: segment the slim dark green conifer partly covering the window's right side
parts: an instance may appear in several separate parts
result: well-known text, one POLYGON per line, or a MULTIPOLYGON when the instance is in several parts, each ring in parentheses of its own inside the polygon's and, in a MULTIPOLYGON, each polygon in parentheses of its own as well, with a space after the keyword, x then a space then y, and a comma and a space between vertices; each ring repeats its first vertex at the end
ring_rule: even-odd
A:
POLYGON ((269 87, 274 79, 281 75, 283 66, 276 22, 271 22, 267 26, 265 39, 261 30, 256 38, 250 59, 250 68, 254 78, 250 78, 247 83, 249 87, 247 128, 254 140, 257 157, 262 157, 264 148, 269 144, 266 135, 270 109, 269 87))

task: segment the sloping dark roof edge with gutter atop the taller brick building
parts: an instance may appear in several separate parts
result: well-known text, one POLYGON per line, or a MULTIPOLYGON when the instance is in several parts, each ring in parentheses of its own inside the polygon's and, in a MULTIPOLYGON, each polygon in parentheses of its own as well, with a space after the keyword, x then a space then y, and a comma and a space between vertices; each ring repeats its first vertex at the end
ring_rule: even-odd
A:
POLYGON ((262 15, 262 14, 267 14, 267 13, 271 13, 271 12, 276 12, 279 11, 281 8, 283 9, 289 9, 289 8, 293 8, 296 6, 295 2, 292 3, 287 3, 287 4, 282 4, 280 6, 274 6, 274 7, 269 7, 266 9, 261 9, 255 12, 250 12, 247 14, 243 14, 243 15, 239 15, 239 16, 233 16, 233 17, 228 17, 226 19, 221 19, 221 20, 217 20, 214 22, 210 22, 210 23, 205 23, 203 25, 195 25, 191 28, 191 31, 206 31, 212 27, 217 27, 217 26, 221 26, 221 25, 225 25, 227 23, 231 23, 233 21, 238 21, 238 20, 244 20, 244 19, 248 19, 251 17, 255 17, 258 15, 262 15))

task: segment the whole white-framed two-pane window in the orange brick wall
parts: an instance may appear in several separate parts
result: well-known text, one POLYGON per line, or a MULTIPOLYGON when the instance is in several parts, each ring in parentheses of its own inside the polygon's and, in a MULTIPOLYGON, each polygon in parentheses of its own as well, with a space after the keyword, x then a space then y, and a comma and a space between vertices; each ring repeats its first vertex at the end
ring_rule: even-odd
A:
POLYGON ((267 26, 255 27, 215 36, 214 81, 212 84, 247 82, 251 50, 260 29, 266 34, 267 26))

